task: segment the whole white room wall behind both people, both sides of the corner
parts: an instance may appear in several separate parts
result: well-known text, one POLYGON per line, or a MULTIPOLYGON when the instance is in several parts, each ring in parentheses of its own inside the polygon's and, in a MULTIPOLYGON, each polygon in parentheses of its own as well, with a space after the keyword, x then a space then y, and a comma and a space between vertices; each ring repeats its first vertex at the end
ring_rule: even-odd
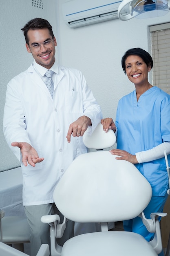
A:
POLYGON ((70 29, 62 18, 62 2, 64 0, 43 0, 44 9, 40 10, 32 7, 31 0, 0 0, 3 10, 0 16, 0 171, 18 164, 4 140, 2 117, 7 82, 25 70, 32 61, 20 31, 28 20, 38 16, 49 20, 58 43, 56 58, 59 63, 82 70, 102 108, 103 116, 113 119, 118 100, 134 90, 121 68, 121 57, 132 47, 141 47, 150 52, 148 26, 170 21, 169 12, 158 18, 117 19, 70 29))

